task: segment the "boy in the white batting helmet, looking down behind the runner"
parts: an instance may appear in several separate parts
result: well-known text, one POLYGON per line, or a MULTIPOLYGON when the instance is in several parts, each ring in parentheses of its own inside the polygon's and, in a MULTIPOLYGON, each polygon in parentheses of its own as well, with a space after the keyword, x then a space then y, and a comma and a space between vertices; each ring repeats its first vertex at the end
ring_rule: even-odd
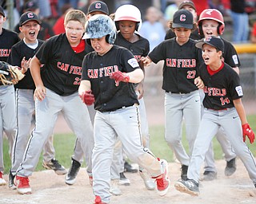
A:
MULTIPOLYGON (((146 40, 146 38, 141 37, 138 34, 138 29, 142 25, 140 10, 138 10, 138 8, 133 5, 120 6, 115 12, 114 22, 117 30, 119 31, 117 33, 114 44, 125 47, 126 49, 130 49, 131 53, 134 54, 135 59, 138 61, 140 68, 144 71, 144 65, 142 61, 140 61, 140 59, 141 57, 146 57, 149 53, 150 43, 148 40, 146 40)), ((135 90, 138 95, 139 102, 138 112, 140 116, 140 124, 142 130, 142 142, 144 147, 149 148, 150 135, 149 126, 146 119, 146 107, 143 100, 144 89, 142 82, 139 84, 135 84, 135 90)), ((121 143, 121 141, 118 140, 117 143, 121 143)), ((122 179, 122 175, 124 172, 124 163, 122 163, 122 145, 116 144, 114 147, 114 153, 114 161, 111 167, 111 179, 120 179, 119 183, 126 183, 124 182, 126 180, 122 179)), ((154 190, 154 180, 151 179, 150 176, 148 176, 142 168, 140 168, 139 174, 141 175, 145 183, 146 189, 154 190)), ((113 182, 115 183, 114 180, 113 182)), ((118 186, 111 186, 110 192, 113 194, 118 192, 118 186)))

